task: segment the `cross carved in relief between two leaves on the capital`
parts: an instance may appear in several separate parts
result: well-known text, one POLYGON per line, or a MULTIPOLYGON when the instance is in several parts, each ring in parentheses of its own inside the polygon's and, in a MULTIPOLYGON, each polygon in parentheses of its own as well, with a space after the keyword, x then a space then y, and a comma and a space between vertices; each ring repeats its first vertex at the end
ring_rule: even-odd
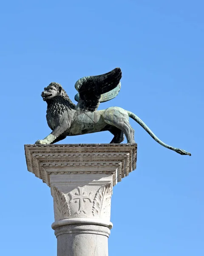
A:
POLYGON ((91 199, 91 195, 92 195, 92 192, 89 193, 89 195, 85 195, 85 192, 83 192, 83 187, 80 188, 80 187, 77 187, 78 191, 75 192, 75 194, 73 195, 72 192, 69 193, 71 195, 71 200, 70 200, 70 203, 73 202, 73 200, 75 199, 79 199, 79 210, 78 212, 76 213, 81 213, 81 212, 84 212, 85 214, 87 213, 84 209, 84 202, 86 200, 89 200, 90 202, 93 202, 93 200, 91 199))

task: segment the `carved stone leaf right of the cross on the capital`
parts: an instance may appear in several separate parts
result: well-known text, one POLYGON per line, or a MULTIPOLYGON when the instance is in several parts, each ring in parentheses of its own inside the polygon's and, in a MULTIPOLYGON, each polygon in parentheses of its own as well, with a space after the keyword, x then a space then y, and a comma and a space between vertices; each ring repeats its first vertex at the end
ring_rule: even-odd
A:
POLYGON ((92 213, 94 217, 106 217, 111 205, 111 184, 99 188, 93 202, 92 213))

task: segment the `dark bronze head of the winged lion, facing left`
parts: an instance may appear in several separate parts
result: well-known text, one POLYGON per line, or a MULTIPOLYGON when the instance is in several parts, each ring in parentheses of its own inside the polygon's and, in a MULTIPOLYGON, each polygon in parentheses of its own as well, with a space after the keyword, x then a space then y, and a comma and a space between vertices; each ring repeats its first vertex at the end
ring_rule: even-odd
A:
POLYGON ((67 93, 62 88, 61 84, 52 82, 48 85, 48 87, 44 88, 44 91, 41 94, 44 101, 47 101, 48 99, 52 99, 56 96, 62 96, 63 98, 68 98, 67 93))

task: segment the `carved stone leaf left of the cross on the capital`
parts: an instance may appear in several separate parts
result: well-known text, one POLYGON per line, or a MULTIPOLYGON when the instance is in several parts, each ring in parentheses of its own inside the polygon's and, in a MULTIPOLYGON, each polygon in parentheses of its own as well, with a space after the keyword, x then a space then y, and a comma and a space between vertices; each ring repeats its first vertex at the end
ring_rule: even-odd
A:
POLYGON ((54 199, 57 205, 57 209, 59 211, 59 214, 61 215, 61 218, 66 218, 71 215, 69 204, 67 199, 65 198, 65 195, 60 192, 56 187, 53 187, 54 191, 54 199))

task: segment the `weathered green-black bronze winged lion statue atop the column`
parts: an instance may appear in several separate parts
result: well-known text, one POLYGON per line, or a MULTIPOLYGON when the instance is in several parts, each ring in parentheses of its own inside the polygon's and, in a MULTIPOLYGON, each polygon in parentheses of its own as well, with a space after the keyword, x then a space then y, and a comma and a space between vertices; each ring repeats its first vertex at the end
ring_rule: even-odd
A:
POLYGON ((129 117, 134 119, 160 145, 176 151, 181 155, 189 152, 163 143, 134 113, 119 107, 97 110, 101 102, 113 99, 121 88, 122 71, 119 67, 99 76, 86 76, 79 79, 75 88, 78 93, 75 105, 58 83, 52 82, 44 88, 41 96, 47 102, 46 119, 52 132, 35 144, 53 144, 67 136, 89 134, 99 131, 110 131, 113 134, 111 143, 121 143, 126 137, 127 143, 135 143, 134 130, 129 117), (125 134, 125 137, 124 137, 125 134))

